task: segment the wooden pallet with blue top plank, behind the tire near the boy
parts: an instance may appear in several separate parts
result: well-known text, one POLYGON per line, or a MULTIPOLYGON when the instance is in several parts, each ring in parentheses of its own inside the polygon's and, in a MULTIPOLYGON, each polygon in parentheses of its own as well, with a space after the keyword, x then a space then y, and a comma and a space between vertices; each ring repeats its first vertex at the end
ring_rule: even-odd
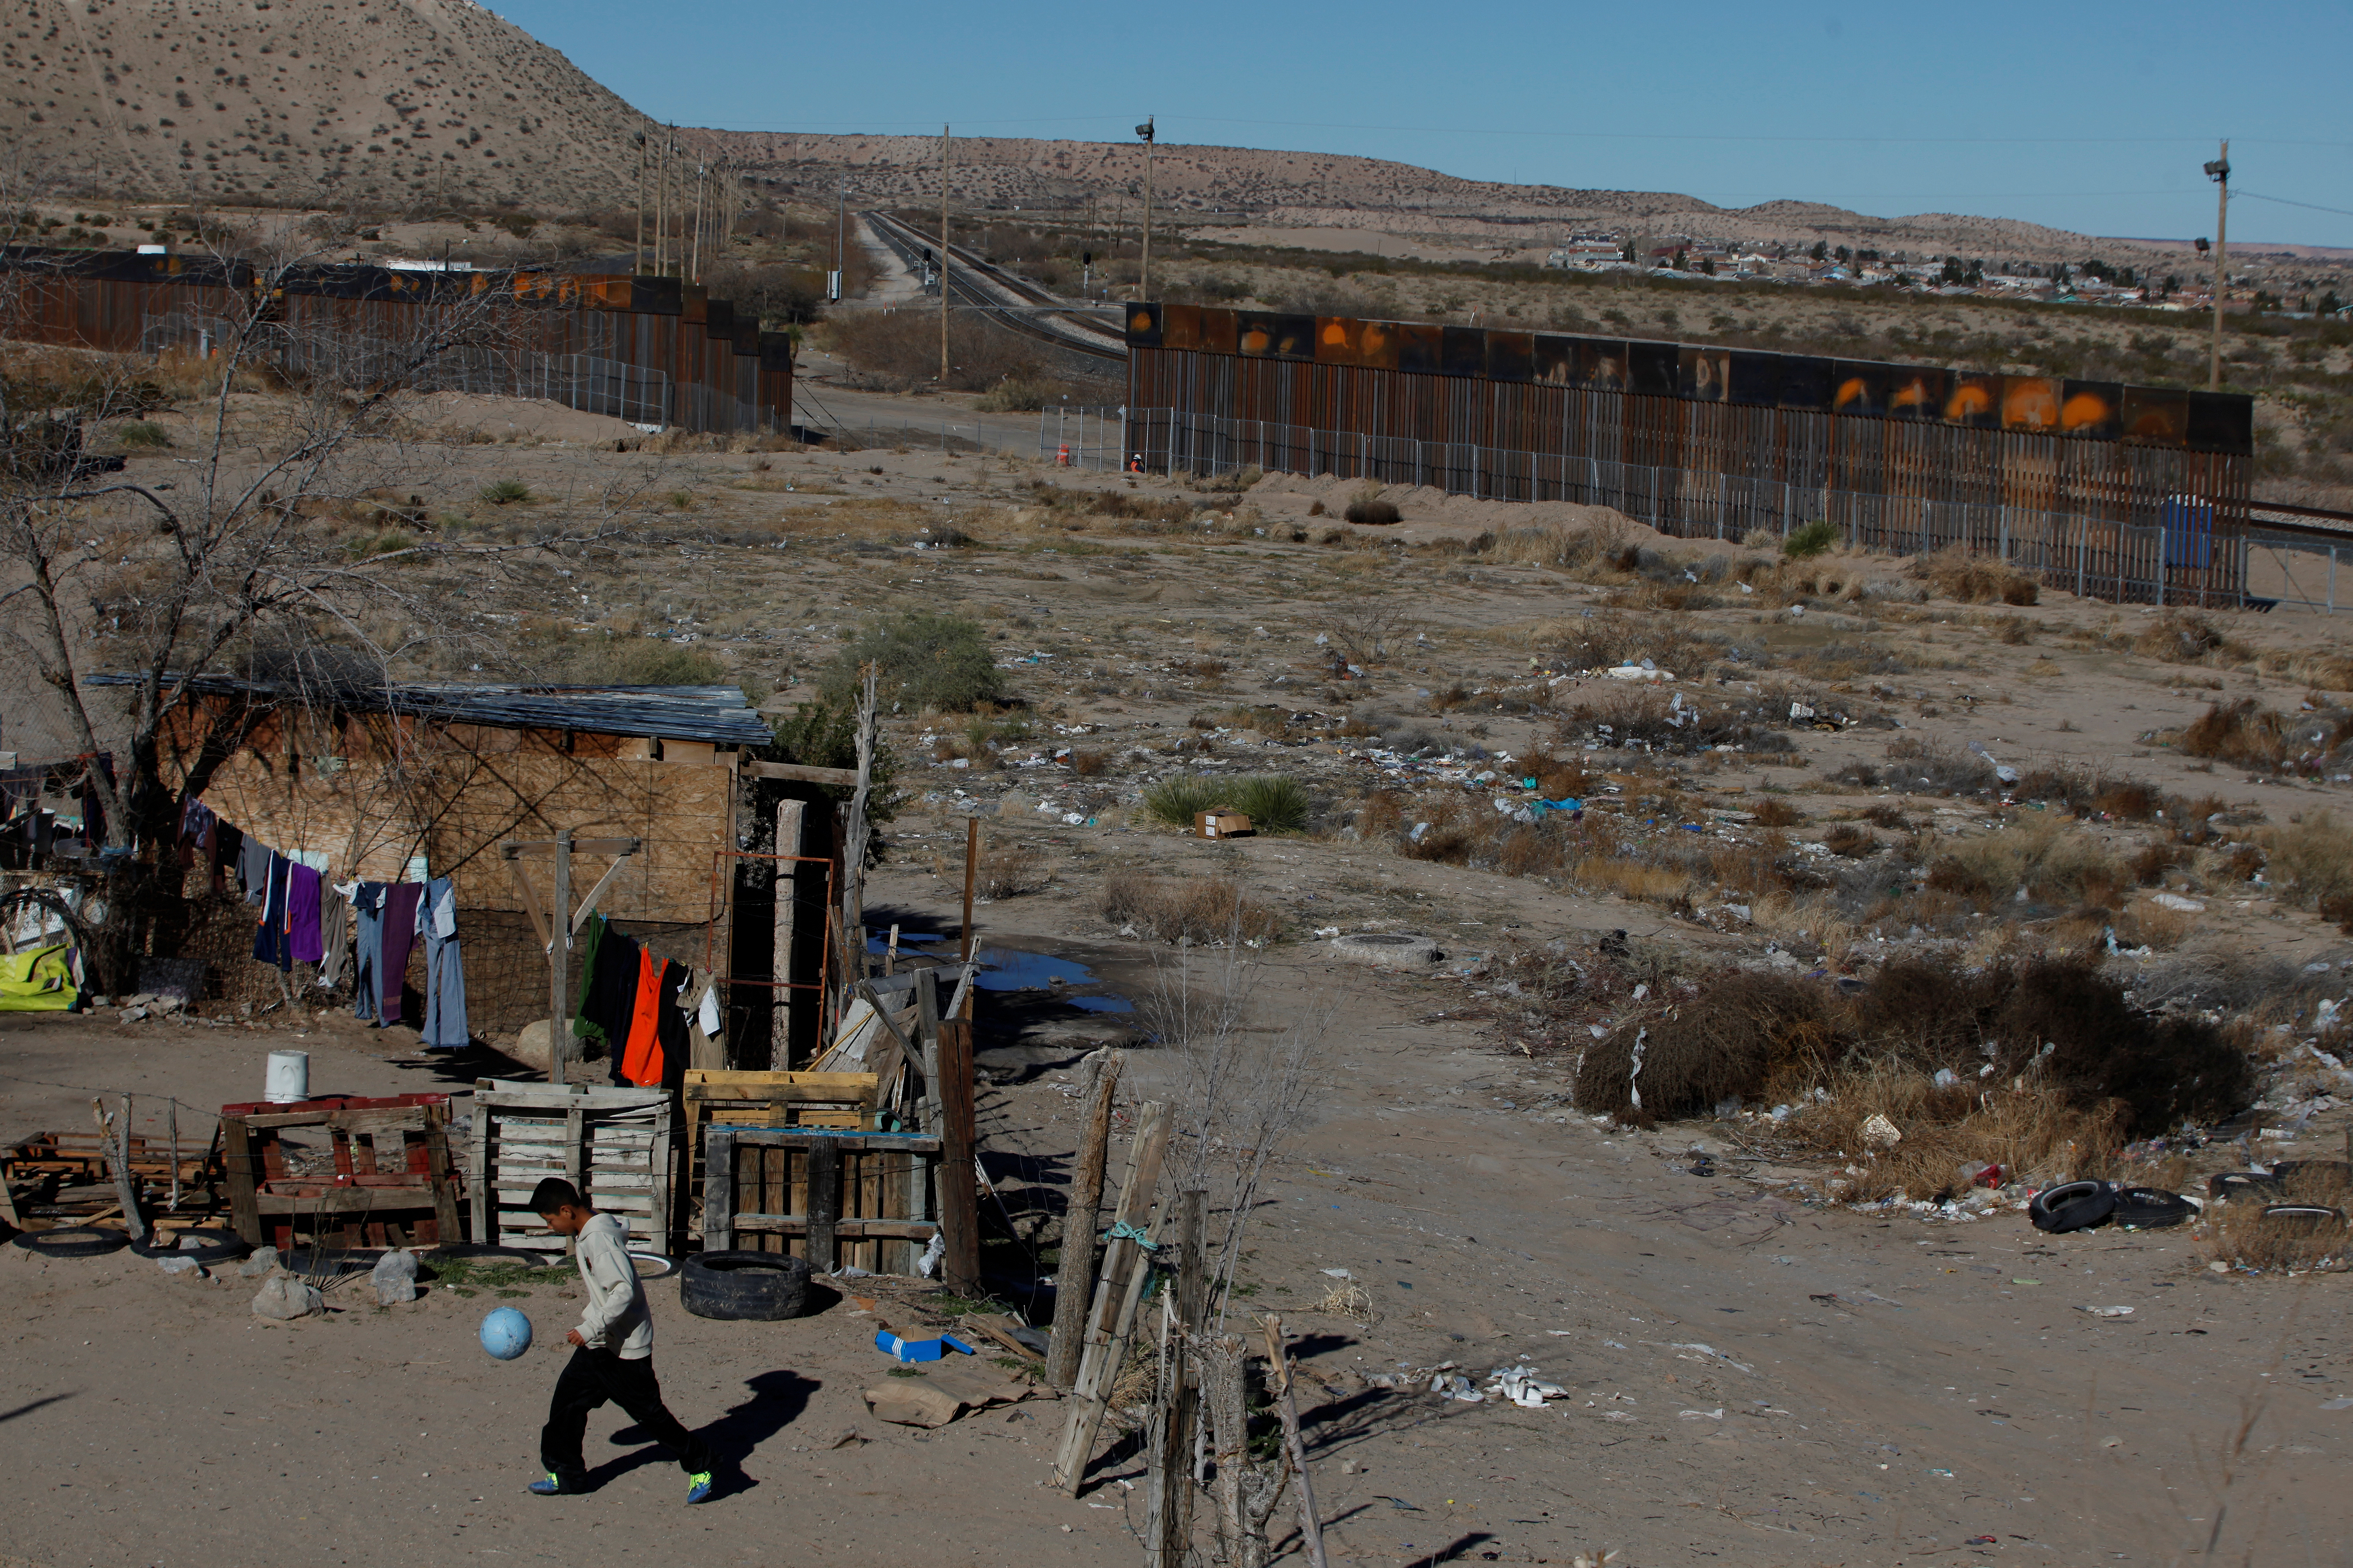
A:
POLYGON ((704 1251, 753 1244, 824 1274, 913 1274, 939 1234, 939 1138, 720 1121, 704 1157, 704 1251))

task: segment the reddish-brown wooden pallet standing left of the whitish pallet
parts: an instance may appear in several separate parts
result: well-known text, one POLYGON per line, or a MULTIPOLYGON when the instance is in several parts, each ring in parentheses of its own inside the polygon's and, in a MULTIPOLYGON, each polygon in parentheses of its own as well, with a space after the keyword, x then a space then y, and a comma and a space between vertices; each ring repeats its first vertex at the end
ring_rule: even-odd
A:
POLYGON ((461 1241, 449 1095, 224 1105, 228 1215, 247 1246, 440 1246, 461 1241), (287 1166, 280 1135, 325 1128, 334 1171, 287 1166))

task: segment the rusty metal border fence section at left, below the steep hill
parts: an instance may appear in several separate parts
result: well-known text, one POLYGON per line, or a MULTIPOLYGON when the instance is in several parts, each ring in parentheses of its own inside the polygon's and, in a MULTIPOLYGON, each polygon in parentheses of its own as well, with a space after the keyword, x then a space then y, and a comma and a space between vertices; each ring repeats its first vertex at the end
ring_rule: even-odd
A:
POLYGON ((776 433, 793 416, 793 346, 675 277, 400 273, 0 247, 0 336, 111 353, 216 355, 240 317, 266 322, 287 371, 365 374, 485 292, 511 296, 506 341, 461 346, 419 390, 546 397, 640 425, 776 433))

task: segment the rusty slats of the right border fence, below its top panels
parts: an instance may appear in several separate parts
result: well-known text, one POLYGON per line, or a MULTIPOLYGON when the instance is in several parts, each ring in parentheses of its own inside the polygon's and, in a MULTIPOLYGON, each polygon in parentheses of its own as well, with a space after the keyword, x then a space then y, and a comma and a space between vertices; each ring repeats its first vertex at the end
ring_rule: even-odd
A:
POLYGON ((1132 343, 1122 456, 1609 505, 1678 536, 1828 520, 1857 548, 1965 545, 2115 602, 2247 599, 2242 451, 1132 343))

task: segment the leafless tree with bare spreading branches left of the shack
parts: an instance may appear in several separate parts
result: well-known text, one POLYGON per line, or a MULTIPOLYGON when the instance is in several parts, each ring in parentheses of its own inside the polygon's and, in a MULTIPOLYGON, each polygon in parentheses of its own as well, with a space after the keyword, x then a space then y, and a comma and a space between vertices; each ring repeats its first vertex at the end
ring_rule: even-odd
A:
MULTIPOLYGON (((384 628, 440 621, 402 576, 416 557, 456 545, 409 534, 355 550, 318 520, 367 508, 384 480, 414 473, 405 409, 468 357, 513 350, 513 294, 421 289, 398 317, 360 313, 285 289, 315 266, 306 244, 294 230, 247 235, 240 254, 212 259, 221 287, 188 292, 207 315, 160 324, 205 348, 195 437, 169 480, 125 477, 87 451, 101 421, 158 400, 153 362, 49 350, 45 374, 21 369, 28 355, 0 374, 0 646, 47 691, 80 752, 115 755, 113 776, 89 778, 111 851, 167 846, 181 797, 200 792, 240 738, 235 724, 216 724, 205 755, 179 759, 179 778, 167 773, 191 677, 381 684, 405 651, 384 628), (87 677, 101 670, 127 679, 92 689, 87 677)), ((64 275, 12 268, 0 336, 40 336, 38 313, 61 287, 71 287, 64 275)), ((139 877, 127 853, 108 865, 139 877)), ((108 926, 120 940, 139 900, 113 893, 108 926)))

